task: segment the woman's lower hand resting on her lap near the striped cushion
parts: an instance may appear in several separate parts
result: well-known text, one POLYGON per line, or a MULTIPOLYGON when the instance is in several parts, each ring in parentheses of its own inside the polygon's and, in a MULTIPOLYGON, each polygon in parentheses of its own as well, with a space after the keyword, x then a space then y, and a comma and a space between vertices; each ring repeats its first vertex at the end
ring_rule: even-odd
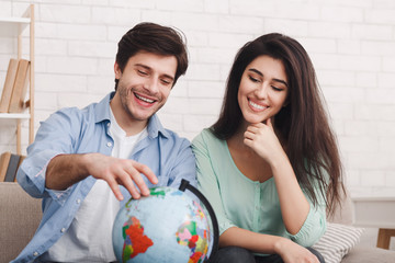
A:
POLYGON ((274 250, 284 263, 319 263, 318 258, 308 249, 285 238, 274 244, 274 250))

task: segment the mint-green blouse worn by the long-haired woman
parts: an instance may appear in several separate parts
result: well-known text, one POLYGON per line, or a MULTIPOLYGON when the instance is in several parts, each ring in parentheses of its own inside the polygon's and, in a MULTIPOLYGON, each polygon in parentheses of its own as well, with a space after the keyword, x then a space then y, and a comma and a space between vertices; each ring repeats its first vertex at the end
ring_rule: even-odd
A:
MULTIPOLYGON (((226 140, 204 129, 192 141, 196 157, 198 186, 213 206, 219 235, 230 227, 258 233, 281 236, 303 245, 313 245, 326 230, 325 201, 311 204, 308 216, 296 235, 286 231, 281 216, 274 179, 263 183, 246 178, 232 159, 226 140)), ((302 188, 303 190, 303 188, 302 188)))

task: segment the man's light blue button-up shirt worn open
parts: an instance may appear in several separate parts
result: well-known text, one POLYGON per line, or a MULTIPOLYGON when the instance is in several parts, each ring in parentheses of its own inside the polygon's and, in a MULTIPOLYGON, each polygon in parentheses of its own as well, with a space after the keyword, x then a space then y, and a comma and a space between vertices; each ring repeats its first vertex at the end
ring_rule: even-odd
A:
MULTIPOLYGON (((43 219, 31 242, 13 262, 34 262, 69 228, 95 179, 88 176, 66 191, 52 191, 45 187, 47 164, 63 153, 111 156, 114 140, 110 136, 110 101, 113 95, 114 92, 82 110, 59 110, 41 123, 16 179, 30 195, 43 198, 43 219)), ((195 158, 190 142, 165 129, 156 115, 149 118, 147 132, 148 136, 136 145, 129 159, 148 165, 158 178, 157 186, 178 187, 182 179, 196 185, 195 158)), ((148 187, 154 186, 143 178, 148 187)), ((131 194, 123 186, 121 192, 124 196, 122 206, 131 194)))

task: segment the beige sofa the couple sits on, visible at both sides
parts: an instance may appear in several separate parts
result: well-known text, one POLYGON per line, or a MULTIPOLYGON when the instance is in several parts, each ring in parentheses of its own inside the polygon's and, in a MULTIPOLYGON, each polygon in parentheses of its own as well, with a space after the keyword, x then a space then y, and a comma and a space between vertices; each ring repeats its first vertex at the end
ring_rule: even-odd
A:
MULTIPOLYGON (((352 203, 343 201, 328 222, 340 226, 352 224, 352 203)), ((40 220, 41 201, 29 196, 18 183, 0 183, 0 263, 10 262, 33 237, 40 220)), ((353 228, 353 227, 350 227, 353 228)), ((362 233, 361 239, 363 239, 362 233)), ((363 245, 359 242, 343 258, 341 263, 394 263, 395 251, 363 245)))

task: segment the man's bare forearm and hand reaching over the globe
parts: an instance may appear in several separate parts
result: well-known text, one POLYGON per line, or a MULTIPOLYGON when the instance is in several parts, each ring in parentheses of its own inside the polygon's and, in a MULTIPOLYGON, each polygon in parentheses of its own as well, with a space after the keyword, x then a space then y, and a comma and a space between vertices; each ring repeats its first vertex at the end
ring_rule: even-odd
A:
POLYGON ((119 185, 125 186, 133 198, 139 198, 140 194, 149 195, 149 190, 143 180, 142 173, 151 183, 156 184, 158 182, 158 179, 147 165, 134 160, 119 159, 101 153, 59 155, 48 163, 45 186, 52 190, 66 190, 92 175, 95 179, 106 181, 115 197, 120 201, 123 199, 123 196, 119 185))

